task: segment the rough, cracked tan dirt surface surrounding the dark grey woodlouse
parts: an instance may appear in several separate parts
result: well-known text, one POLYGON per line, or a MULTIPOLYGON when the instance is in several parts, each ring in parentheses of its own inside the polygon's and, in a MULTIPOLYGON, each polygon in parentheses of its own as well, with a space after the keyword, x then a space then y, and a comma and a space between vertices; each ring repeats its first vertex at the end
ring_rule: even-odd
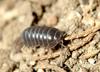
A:
POLYGON ((100 72, 100 0, 0 0, 0 72, 100 72), (25 46, 35 25, 64 31, 63 46, 25 46))

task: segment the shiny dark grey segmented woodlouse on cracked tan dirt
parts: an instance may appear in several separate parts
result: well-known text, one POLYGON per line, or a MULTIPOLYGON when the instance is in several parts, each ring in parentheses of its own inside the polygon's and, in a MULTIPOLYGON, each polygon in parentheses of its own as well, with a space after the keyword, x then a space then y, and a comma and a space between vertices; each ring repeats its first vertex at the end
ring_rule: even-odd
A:
POLYGON ((23 31, 22 38, 25 45, 55 47, 62 40, 63 33, 56 28, 46 26, 32 26, 23 31))

